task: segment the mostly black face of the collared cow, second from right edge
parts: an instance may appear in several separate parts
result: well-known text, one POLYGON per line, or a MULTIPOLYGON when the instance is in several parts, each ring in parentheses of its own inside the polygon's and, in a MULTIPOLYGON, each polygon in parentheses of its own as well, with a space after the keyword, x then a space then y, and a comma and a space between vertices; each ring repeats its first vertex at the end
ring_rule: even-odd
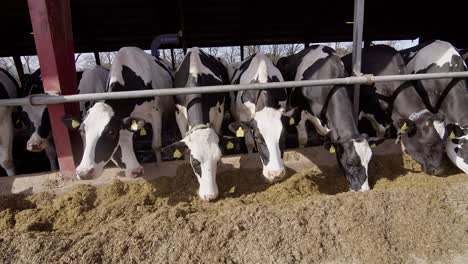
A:
POLYGON ((445 117, 425 113, 416 120, 397 122, 404 151, 421 164, 423 171, 432 175, 443 173, 445 117))

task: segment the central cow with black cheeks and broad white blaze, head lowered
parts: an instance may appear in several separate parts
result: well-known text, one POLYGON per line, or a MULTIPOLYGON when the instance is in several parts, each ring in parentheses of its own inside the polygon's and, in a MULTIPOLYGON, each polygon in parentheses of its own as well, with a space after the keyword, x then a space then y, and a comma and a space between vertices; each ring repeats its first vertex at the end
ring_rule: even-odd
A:
MULTIPOLYGON (((282 81, 281 72, 261 53, 243 61, 231 80, 233 84, 282 81)), ((286 89, 240 91, 231 97, 231 113, 237 121, 231 123, 229 129, 238 137, 245 136, 249 153, 257 147, 263 176, 271 182, 285 176, 285 129, 295 112, 293 109, 286 113, 286 101, 286 89)))

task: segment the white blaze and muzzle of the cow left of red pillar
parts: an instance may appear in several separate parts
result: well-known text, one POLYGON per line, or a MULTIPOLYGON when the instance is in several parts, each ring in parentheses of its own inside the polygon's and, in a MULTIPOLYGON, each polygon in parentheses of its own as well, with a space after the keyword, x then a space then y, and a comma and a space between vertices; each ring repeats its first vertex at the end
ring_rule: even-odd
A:
POLYGON ((28 151, 43 151, 47 147, 47 144, 48 144, 47 138, 49 135, 41 136, 39 134, 39 128, 42 126, 42 116, 44 115, 44 111, 46 110, 47 110, 46 105, 23 106, 23 111, 28 115, 29 120, 34 126, 34 132, 26 144, 26 149, 28 151))

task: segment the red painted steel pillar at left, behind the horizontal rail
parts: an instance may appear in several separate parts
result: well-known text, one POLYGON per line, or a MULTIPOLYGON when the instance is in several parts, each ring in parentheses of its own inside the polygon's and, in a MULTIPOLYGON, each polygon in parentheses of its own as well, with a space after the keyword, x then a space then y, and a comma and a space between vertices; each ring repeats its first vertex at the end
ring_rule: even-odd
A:
MULTIPOLYGON (((46 93, 76 94, 76 69, 69 0, 28 0, 29 14, 46 93)), ((60 172, 64 178, 75 175, 72 144, 61 122, 65 112, 78 115, 78 104, 49 105, 52 132, 60 172)))

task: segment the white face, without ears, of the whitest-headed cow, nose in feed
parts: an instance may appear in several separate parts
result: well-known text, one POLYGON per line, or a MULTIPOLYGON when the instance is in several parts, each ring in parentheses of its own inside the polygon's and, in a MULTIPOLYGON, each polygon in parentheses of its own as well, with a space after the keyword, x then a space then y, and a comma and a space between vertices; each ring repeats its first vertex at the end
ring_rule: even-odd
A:
POLYGON ((222 155, 218 145, 218 134, 211 128, 198 129, 182 141, 190 149, 190 163, 200 184, 200 198, 207 201, 216 199, 216 171, 222 155))

